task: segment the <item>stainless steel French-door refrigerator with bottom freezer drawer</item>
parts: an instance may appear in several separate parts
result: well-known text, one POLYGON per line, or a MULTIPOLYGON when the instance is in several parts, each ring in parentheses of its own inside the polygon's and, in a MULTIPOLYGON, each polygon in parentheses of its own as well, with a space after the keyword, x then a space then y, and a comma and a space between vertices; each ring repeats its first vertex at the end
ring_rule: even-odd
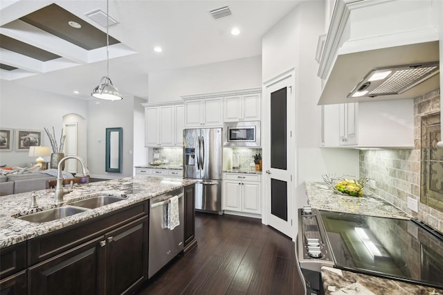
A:
POLYGON ((183 177, 197 179, 195 209, 219 215, 223 214, 221 134, 221 128, 183 129, 183 177))

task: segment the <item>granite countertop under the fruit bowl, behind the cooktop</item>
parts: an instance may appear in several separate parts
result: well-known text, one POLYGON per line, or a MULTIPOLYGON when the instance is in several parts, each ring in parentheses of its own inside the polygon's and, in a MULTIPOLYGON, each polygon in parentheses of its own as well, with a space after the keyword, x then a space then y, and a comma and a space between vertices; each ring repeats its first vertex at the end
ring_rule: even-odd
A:
POLYGON ((324 182, 306 182, 305 187, 312 208, 401 219, 412 217, 369 190, 364 190, 361 197, 352 197, 334 193, 324 182))

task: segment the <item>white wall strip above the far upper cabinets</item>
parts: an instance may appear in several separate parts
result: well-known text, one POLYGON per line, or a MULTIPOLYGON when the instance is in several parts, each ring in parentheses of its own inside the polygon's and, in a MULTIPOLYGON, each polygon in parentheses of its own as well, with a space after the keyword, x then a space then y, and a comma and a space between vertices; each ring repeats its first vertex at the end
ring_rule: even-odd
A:
POLYGON ((160 71, 149 75, 149 102, 180 100, 181 96, 260 87, 261 57, 160 71))

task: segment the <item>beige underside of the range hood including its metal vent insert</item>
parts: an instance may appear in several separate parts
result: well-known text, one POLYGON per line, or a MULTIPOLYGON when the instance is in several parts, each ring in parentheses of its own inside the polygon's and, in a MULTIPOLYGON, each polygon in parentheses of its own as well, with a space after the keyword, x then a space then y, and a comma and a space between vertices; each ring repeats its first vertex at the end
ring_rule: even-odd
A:
MULTIPOLYGON (((338 55, 318 100, 318 105, 422 96, 440 87, 439 60, 438 41, 338 55), (399 79, 397 85, 392 85, 392 89, 397 89, 397 91, 381 90, 379 93, 371 94, 371 91, 377 89, 377 85, 380 84, 379 82, 368 83, 372 71, 382 72, 383 69, 388 68, 406 70, 406 68, 413 69, 414 67, 422 69, 424 75, 409 80, 406 77, 399 79)), ((389 77, 392 77, 392 73, 387 78, 389 77)))

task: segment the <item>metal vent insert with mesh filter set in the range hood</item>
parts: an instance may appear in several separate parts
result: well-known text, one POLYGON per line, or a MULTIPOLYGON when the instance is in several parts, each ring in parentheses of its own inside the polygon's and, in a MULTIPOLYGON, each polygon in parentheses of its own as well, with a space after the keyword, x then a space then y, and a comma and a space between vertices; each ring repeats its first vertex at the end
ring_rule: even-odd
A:
POLYGON ((439 62, 375 68, 365 75, 347 98, 404 93, 437 73, 440 73, 439 62))

